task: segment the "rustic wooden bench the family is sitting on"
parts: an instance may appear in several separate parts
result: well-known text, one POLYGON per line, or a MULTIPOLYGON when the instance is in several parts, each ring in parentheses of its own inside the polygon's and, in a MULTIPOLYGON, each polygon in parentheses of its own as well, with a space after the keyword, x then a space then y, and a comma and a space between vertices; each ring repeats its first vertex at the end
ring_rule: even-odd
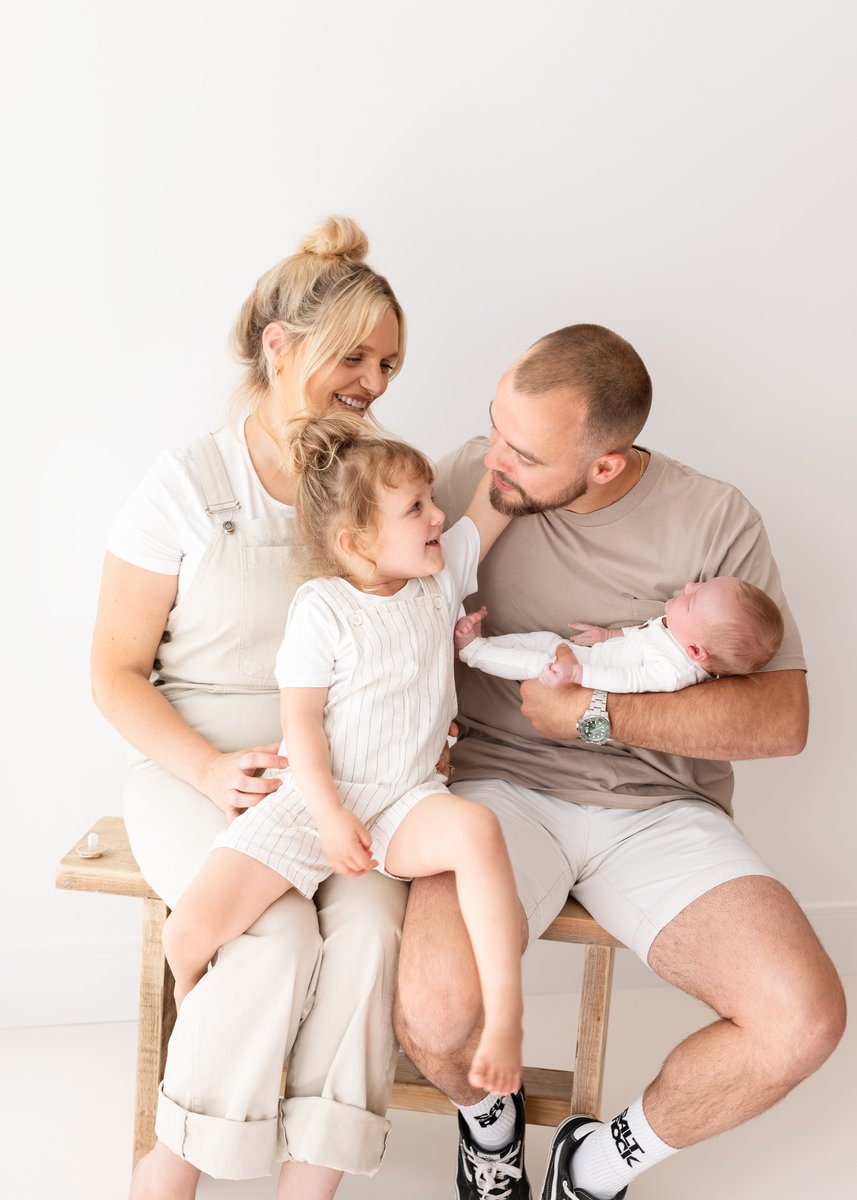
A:
MULTIPOLYGON (((143 955, 137 1028, 137 1096, 133 1160, 155 1145, 157 1088, 163 1078, 167 1043, 175 1021, 173 977, 163 956, 163 923, 168 908, 140 875, 121 817, 102 817, 56 868, 56 887, 71 892, 103 892, 143 900, 143 955), (90 833, 107 847, 100 858, 82 858, 90 833)), ((525 1067, 527 1121, 556 1126, 570 1112, 598 1116, 601 1105, 613 949, 621 946, 575 900, 569 900, 541 935, 553 942, 585 947, 576 1049, 568 1048, 573 1070, 525 1067)), ((419 1112, 455 1112, 404 1055, 400 1055, 390 1106, 419 1112)))

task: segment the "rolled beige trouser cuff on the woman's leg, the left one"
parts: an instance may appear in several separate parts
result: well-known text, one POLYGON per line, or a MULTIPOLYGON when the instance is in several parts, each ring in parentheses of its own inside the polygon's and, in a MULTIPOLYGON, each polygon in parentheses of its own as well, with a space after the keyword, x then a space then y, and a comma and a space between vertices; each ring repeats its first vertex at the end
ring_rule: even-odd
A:
POLYGON ((270 1175, 277 1147, 277 1117, 230 1121, 188 1112, 163 1093, 155 1133, 179 1158, 216 1180, 256 1180, 270 1175))

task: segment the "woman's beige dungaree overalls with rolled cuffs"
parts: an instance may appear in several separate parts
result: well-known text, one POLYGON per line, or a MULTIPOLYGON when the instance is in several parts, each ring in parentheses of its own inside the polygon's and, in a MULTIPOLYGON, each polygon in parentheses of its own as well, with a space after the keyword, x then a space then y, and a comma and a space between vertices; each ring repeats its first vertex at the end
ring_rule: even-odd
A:
MULTIPOLYGON (((154 678, 218 749, 275 743, 274 661, 296 583, 294 522, 242 521, 214 439, 191 452, 212 535, 169 614, 154 678)), ((125 817, 144 876, 170 905, 227 823, 205 796, 138 754, 125 817)), ((269 1175, 284 1159, 374 1174, 389 1129, 406 900, 404 884, 374 871, 332 876, 313 901, 292 892, 224 946, 169 1043, 161 1141, 217 1178, 269 1175)))

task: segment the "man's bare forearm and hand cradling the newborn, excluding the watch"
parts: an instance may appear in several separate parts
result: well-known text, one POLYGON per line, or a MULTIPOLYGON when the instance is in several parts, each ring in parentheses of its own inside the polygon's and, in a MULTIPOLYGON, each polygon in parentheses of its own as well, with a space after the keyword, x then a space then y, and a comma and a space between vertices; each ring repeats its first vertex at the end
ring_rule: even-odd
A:
MULTIPOLYGON (((562 650, 561 650, 562 654, 562 650)), ((575 722, 592 690, 569 684, 521 684, 521 712, 537 732, 559 740, 577 737, 575 722)), ((696 684, 683 691, 611 692, 612 738, 627 745, 690 758, 775 758, 807 744, 809 696, 803 671, 768 671, 696 684)))

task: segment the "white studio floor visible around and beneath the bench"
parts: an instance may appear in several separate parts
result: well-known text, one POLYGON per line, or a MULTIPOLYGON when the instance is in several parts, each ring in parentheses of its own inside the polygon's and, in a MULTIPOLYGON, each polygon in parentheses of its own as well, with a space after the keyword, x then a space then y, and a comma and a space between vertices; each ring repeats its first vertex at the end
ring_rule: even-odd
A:
MULTIPOLYGON (((847 980, 852 1006, 857 977, 847 980)), ((527 997, 526 1060, 567 1066, 575 997, 527 997), (564 1060, 564 1061, 563 1061, 564 1060)), ((607 1045, 604 1115, 633 1100, 667 1050, 711 1014, 666 988, 617 990, 607 1045)), ((0 1031, 0 1178, 16 1200, 118 1200, 127 1189, 136 1026, 0 1031)), ((857 1031, 773 1111, 677 1154, 634 1184, 633 1200, 857 1200, 857 1031)), ((342 1200, 437 1200, 451 1194, 453 1118, 392 1112, 384 1164, 348 1178, 342 1200)), ((528 1130, 538 1200, 550 1130, 528 1130)), ((274 1182, 204 1178, 199 1200, 272 1200, 274 1182)))

